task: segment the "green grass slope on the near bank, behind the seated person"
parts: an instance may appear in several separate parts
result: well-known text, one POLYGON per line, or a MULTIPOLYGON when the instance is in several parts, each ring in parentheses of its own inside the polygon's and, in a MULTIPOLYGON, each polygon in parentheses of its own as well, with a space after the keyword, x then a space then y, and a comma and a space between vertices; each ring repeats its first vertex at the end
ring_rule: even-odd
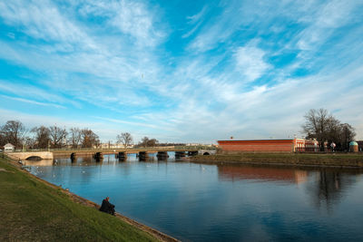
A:
POLYGON ((0 158, 0 241, 157 241, 0 158))

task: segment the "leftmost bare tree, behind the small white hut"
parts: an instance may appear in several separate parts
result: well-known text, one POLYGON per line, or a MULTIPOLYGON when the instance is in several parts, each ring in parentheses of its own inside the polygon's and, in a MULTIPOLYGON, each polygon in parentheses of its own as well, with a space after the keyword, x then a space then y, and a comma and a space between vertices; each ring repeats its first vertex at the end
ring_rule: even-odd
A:
POLYGON ((6 143, 12 143, 18 149, 22 148, 26 129, 21 121, 6 121, 1 127, 1 133, 6 143))

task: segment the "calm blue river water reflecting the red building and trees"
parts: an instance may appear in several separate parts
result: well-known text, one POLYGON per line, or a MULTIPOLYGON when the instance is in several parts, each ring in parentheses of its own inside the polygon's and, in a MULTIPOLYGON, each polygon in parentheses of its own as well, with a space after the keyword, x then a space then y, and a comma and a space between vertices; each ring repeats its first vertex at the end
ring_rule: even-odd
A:
POLYGON ((120 162, 106 155, 28 162, 31 172, 182 241, 363 241, 355 169, 120 162))

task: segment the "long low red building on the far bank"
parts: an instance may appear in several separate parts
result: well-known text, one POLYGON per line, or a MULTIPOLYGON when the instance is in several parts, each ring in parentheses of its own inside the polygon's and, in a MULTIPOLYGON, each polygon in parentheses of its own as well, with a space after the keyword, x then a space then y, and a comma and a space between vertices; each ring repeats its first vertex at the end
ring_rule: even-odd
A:
POLYGON ((233 152, 318 152, 316 140, 219 140, 221 150, 233 152))

